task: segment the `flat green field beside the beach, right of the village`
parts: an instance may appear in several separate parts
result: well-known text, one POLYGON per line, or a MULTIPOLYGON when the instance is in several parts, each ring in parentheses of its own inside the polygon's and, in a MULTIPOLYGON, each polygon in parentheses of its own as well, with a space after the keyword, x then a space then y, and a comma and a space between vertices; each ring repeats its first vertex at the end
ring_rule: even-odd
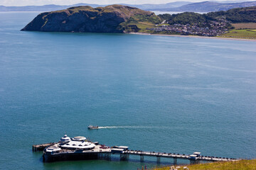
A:
POLYGON ((230 30, 228 33, 220 35, 219 37, 256 39, 256 30, 255 29, 230 30))

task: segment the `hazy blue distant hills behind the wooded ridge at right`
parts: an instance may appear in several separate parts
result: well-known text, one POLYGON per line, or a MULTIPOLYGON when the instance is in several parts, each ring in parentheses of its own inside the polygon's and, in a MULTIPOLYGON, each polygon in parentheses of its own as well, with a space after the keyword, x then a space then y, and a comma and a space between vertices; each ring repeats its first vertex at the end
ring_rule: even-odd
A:
POLYGON ((242 8, 256 6, 256 1, 247 1, 241 3, 218 3, 215 1, 203 1, 193 4, 186 4, 177 8, 163 8, 159 11, 186 11, 186 12, 214 12, 227 11, 231 8, 242 8))

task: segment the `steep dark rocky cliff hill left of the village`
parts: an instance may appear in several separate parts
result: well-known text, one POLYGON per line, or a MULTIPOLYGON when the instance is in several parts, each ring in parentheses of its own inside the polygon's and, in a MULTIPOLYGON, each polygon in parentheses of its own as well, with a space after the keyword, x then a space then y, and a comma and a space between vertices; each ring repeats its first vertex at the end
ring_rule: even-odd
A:
MULTIPOLYGON (((126 22, 133 16, 155 17, 152 12, 129 6, 112 5, 104 8, 77 6, 62 11, 41 13, 22 30, 124 33, 125 28, 120 26, 120 23, 126 22)), ((134 30, 137 31, 138 28, 134 30)))

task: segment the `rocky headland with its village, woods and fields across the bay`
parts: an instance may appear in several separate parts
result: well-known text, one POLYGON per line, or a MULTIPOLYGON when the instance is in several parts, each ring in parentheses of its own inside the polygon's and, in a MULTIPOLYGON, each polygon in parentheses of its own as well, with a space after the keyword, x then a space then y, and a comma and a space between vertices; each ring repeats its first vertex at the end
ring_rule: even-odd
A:
POLYGON ((123 5, 97 8, 76 6, 60 11, 40 13, 21 30, 73 33, 148 33, 256 39, 256 32, 253 30, 256 28, 255 13, 256 6, 204 14, 184 12, 158 16, 151 11, 123 5), (234 31, 234 28, 241 26, 244 27, 244 30, 234 31), (245 28, 251 28, 251 30, 245 30, 245 28))

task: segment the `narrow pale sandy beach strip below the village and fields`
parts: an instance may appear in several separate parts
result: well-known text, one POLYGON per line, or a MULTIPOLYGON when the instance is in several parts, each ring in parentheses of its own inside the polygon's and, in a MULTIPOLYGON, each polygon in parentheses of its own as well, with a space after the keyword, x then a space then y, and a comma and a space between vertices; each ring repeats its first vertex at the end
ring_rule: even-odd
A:
POLYGON ((168 37, 188 37, 188 38, 208 38, 208 39, 218 39, 218 40, 243 40, 243 41, 253 41, 256 42, 256 39, 245 39, 245 38, 220 38, 220 37, 206 37, 206 36, 197 36, 197 35, 168 35, 168 34, 151 34, 151 33, 128 33, 135 35, 155 35, 155 36, 168 36, 168 37))

